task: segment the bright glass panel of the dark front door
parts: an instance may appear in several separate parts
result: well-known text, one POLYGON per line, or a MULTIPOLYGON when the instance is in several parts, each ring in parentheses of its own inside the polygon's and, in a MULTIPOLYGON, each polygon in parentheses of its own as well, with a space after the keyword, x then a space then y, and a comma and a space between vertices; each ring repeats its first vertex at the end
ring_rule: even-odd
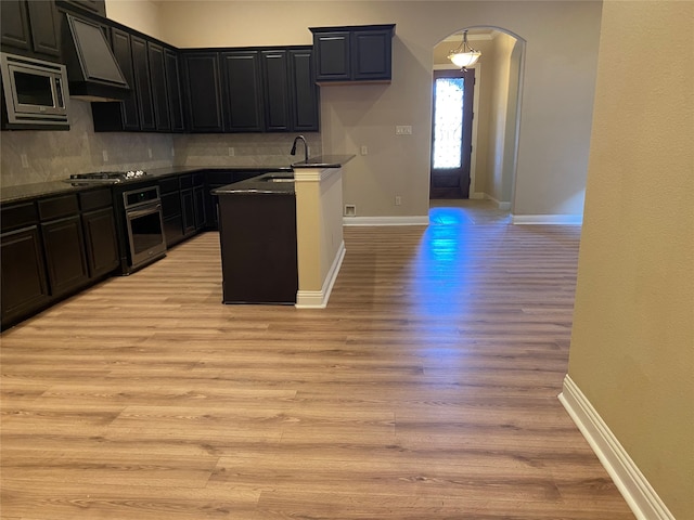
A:
POLYGON ((434 168, 460 168, 463 144, 463 78, 434 83, 434 168))

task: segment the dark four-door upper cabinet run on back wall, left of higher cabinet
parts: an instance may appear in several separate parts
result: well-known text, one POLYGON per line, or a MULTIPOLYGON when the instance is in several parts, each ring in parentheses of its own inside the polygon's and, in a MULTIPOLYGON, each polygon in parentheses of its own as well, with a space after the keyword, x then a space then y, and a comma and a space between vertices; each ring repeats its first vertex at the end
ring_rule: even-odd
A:
POLYGON ((318 131, 311 48, 184 51, 191 132, 318 131))

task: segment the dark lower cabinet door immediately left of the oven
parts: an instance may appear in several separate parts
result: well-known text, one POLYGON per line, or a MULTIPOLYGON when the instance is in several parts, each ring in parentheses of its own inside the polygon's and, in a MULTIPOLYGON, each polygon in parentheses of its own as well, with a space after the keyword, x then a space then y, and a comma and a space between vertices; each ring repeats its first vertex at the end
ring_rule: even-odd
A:
POLYGON ((107 274, 118 266, 118 243, 113 207, 82 213, 90 276, 107 274))

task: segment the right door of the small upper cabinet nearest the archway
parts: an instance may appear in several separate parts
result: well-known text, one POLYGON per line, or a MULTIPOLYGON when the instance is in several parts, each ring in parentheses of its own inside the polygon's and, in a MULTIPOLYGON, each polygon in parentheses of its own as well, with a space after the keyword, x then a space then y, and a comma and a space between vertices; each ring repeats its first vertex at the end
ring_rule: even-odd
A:
POLYGON ((351 35, 351 69, 355 80, 389 80, 393 30, 356 30, 351 35))

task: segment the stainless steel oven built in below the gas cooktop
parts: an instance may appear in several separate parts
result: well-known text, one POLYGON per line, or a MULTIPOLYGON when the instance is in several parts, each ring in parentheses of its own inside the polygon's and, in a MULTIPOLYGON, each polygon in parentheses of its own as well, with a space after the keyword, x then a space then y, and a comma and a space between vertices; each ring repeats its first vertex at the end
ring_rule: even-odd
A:
POLYGON ((128 232, 129 263, 139 268, 166 253, 164 219, 158 186, 123 193, 128 232))

